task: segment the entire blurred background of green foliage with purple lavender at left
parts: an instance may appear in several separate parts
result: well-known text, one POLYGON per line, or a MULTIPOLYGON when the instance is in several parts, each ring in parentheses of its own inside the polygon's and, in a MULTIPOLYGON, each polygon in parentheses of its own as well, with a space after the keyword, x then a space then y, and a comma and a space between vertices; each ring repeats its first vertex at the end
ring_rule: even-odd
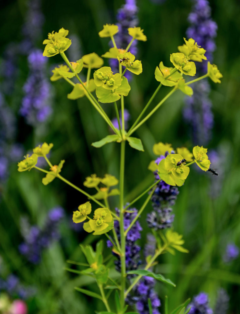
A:
MULTIPOLYGON (((136 1, 138 10, 127 19, 141 26, 148 40, 137 43, 136 55, 142 61, 143 73, 131 80, 131 92, 125 102, 130 113, 128 125, 135 121, 158 86, 154 78, 156 66, 160 61, 171 66, 170 53, 177 52, 186 30, 194 24, 197 17, 192 16, 189 21, 189 14, 195 2, 136 1)), ((41 173, 19 173, 17 161, 46 141, 54 143, 49 157, 52 163, 65 159, 62 175, 79 187, 92 173, 119 177, 120 145, 111 143, 101 149, 91 146, 110 133, 108 126, 87 99, 67 99, 72 89, 67 82, 50 81, 51 70, 63 63, 60 55, 47 60, 39 55, 47 33, 61 27, 69 30, 68 37, 72 39, 67 51, 70 61, 90 52, 103 54, 109 49, 109 40, 101 39, 98 32, 103 24, 117 22, 118 10, 124 4, 122 0, 1 3, 0 291, 11 300, 25 300, 29 313, 90 314, 96 309, 104 310, 100 301, 89 302, 90 298, 74 290, 75 286, 95 290, 94 283, 65 270, 70 267, 68 259, 85 261, 79 243, 94 245, 99 239, 72 223, 72 212, 86 198, 58 180, 43 186, 41 173), (36 239, 38 243, 34 242, 36 239), (30 255, 26 253, 29 247, 30 255)), ((229 299, 228 311, 224 313, 239 313, 240 3, 211 0, 210 6, 211 19, 217 25, 217 30, 212 30, 216 45, 212 46, 212 61, 223 74, 222 83, 203 85, 190 103, 180 91, 176 92, 136 131, 145 151, 126 148, 125 202, 154 180, 147 170, 156 158, 152 152, 154 143, 162 141, 172 143, 174 148, 189 149, 195 144, 205 145, 212 168, 219 176, 193 169, 179 188, 173 206, 174 230, 183 234, 189 254, 177 252, 175 256, 166 254, 160 258, 157 271, 172 279, 177 288, 160 283, 155 290, 162 303, 168 295, 170 310, 205 291, 213 309, 222 294, 221 300, 229 299), (186 120, 189 116, 192 125, 186 120)), ((201 32, 204 30, 200 35, 201 32)), ((81 75, 84 78, 86 73, 81 75)), ((167 92, 167 87, 160 89, 151 108, 167 92)), ((113 106, 103 106, 114 118, 113 106)), ((88 192, 95 193, 90 189, 88 192)), ((117 206, 117 201, 117 197, 111 198, 110 205, 117 206)), ((139 200, 136 208, 142 202, 139 200)), ((146 216, 151 210, 149 203, 141 215, 142 247, 150 231, 146 216)), ((106 249, 105 257, 110 253, 106 249)), ((114 265, 111 272, 117 276, 114 265)))

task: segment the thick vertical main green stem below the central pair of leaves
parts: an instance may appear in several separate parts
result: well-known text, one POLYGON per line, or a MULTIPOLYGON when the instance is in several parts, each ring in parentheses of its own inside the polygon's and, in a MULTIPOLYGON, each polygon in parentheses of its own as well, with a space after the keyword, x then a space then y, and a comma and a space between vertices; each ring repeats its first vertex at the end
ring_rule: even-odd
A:
POLYGON ((121 142, 120 155, 120 243, 121 243, 121 291, 120 304, 121 309, 125 306, 124 290, 126 284, 126 265, 125 265, 125 235, 124 235, 124 167, 125 167, 125 141, 121 142))

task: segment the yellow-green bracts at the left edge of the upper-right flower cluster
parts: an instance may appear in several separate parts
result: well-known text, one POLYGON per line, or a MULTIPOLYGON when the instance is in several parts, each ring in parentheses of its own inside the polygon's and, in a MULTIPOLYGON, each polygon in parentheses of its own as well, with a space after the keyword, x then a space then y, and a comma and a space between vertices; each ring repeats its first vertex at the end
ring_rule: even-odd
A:
POLYGON ((156 80, 165 86, 175 86, 182 75, 179 72, 173 72, 173 70, 173 68, 165 67, 161 61, 159 67, 155 69, 156 80))

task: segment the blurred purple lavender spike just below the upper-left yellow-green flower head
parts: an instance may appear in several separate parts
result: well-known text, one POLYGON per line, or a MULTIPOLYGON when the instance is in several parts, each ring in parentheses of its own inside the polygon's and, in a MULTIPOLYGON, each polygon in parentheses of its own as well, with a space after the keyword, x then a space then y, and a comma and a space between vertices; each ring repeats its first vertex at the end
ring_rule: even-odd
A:
POLYGON ((25 96, 19 112, 26 118, 28 124, 35 126, 39 122, 44 122, 51 114, 51 86, 45 78, 46 59, 42 56, 42 51, 33 50, 28 62, 30 73, 23 87, 25 96))

